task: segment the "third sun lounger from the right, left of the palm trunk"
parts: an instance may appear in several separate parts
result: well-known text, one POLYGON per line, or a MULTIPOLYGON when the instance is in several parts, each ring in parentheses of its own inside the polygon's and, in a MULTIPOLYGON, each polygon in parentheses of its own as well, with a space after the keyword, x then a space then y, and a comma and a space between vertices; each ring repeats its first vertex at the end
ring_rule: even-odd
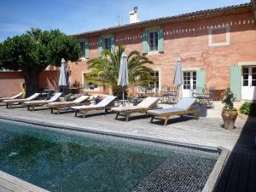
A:
POLYGON ((78 113, 83 113, 83 118, 86 116, 86 113, 92 110, 105 110, 107 113, 109 109, 114 107, 115 98, 116 96, 106 96, 102 102, 99 102, 96 105, 75 106, 72 108, 76 110, 75 116, 77 116, 78 113))

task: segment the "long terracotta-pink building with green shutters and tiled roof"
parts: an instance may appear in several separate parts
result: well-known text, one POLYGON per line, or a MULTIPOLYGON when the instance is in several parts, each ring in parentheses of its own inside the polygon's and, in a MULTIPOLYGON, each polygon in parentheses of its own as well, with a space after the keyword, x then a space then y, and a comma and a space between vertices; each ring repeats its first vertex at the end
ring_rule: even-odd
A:
MULTIPOLYGON (((135 9, 130 13, 130 24, 75 34, 84 54, 78 64, 68 63, 69 83, 84 85, 88 92, 111 91, 93 87, 86 80, 86 61, 101 56, 102 49, 113 50, 118 44, 124 44, 127 53, 137 49, 154 62, 151 67, 157 81, 148 84, 155 92, 173 86, 174 68, 181 58, 183 96, 190 96, 196 88, 224 90, 230 86, 238 99, 256 100, 256 9, 253 4, 145 21, 137 20, 135 9)), ((138 88, 132 88, 129 94, 137 91, 138 88)))

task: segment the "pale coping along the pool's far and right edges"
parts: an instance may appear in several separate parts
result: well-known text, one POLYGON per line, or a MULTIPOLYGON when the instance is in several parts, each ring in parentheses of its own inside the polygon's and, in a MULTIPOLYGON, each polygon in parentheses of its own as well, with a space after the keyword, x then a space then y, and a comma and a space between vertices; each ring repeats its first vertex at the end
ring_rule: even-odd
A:
MULTIPOLYGON (((173 142, 166 139, 159 139, 159 138, 153 138, 153 137, 140 137, 140 136, 134 136, 130 134, 122 134, 122 133, 115 133, 115 132, 108 132, 108 131, 96 131, 91 130, 88 128, 80 128, 76 126, 69 126, 69 125, 57 125, 57 124, 51 124, 51 123, 45 123, 39 120, 28 120, 28 119, 19 119, 19 118, 9 118, 9 117, 3 117, 0 115, 0 119, 3 120, 9 120, 9 121, 15 121, 15 122, 21 122, 31 125, 39 125, 39 126, 48 126, 55 129, 60 130, 67 130, 67 131, 81 131, 86 133, 92 133, 92 134, 98 134, 103 136, 110 136, 110 137, 121 137, 121 138, 127 138, 127 139, 135 139, 140 140, 144 142, 151 142, 151 143, 161 143, 161 144, 167 144, 167 145, 173 145, 177 147, 183 147, 183 148, 190 148, 195 150, 201 150, 201 151, 208 151, 208 152, 218 152, 218 160, 216 164, 213 166, 212 172, 210 173, 209 177, 207 178, 207 183, 205 183, 204 188, 202 189, 203 192, 212 192, 218 182, 218 177, 220 176, 224 164, 226 162, 226 159, 228 158, 228 154, 230 151, 227 148, 224 147, 210 147, 210 146, 203 146, 203 145, 197 145, 197 144, 190 144, 190 143, 179 143, 179 142, 173 142)), ((33 184, 32 184, 33 185, 33 184)))

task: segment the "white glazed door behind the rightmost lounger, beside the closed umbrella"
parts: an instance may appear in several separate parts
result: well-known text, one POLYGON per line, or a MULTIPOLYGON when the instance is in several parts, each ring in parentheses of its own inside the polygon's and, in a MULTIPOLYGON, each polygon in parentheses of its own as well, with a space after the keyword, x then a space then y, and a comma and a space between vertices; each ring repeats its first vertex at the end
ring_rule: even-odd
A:
POLYGON ((183 72, 183 97, 191 97, 196 89, 196 72, 183 72))

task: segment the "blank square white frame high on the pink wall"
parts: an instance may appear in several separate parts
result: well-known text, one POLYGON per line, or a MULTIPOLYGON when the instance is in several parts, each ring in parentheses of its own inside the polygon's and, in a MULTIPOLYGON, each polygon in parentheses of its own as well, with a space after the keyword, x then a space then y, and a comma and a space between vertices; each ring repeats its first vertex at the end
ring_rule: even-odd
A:
POLYGON ((230 45, 230 26, 216 26, 208 28, 208 45, 210 47, 219 47, 230 45), (212 43, 212 32, 214 30, 225 29, 226 40, 224 42, 212 43))

